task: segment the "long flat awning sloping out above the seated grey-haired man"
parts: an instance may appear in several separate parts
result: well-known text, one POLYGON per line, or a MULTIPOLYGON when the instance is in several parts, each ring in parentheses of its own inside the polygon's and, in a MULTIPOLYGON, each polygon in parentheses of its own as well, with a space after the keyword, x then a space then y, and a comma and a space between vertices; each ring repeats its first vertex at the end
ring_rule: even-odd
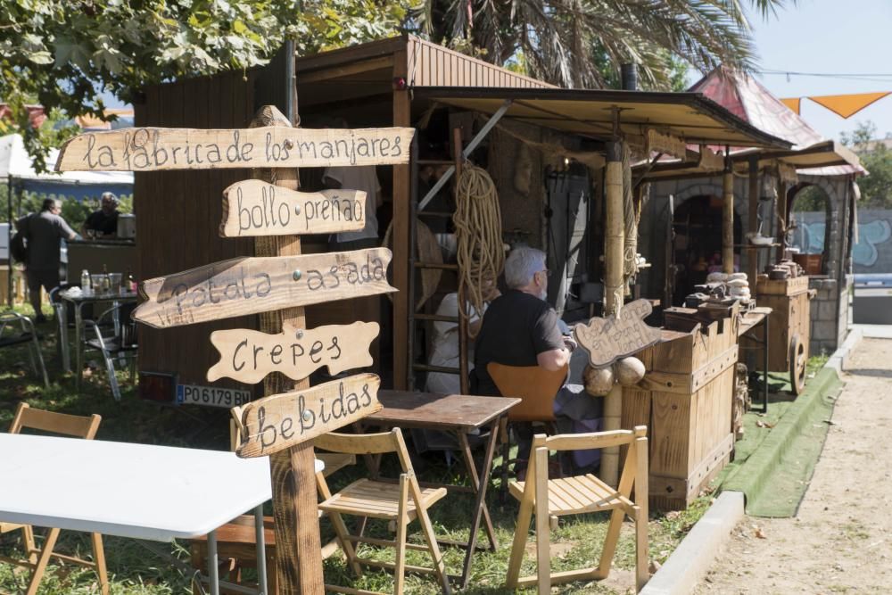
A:
POLYGON ((483 87, 414 87, 413 92, 416 98, 488 114, 510 100, 505 118, 602 141, 613 136, 612 112, 618 108, 622 132, 632 143, 654 130, 693 145, 791 146, 697 93, 483 87))

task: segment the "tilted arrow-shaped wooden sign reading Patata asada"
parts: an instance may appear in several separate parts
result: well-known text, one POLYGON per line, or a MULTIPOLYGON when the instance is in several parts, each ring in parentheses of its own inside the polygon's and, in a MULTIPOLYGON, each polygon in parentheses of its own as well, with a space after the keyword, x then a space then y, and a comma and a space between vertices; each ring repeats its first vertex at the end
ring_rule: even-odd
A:
POLYGON ((145 281, 140 293, 146 301, 134 318, 164 328, 391 293, 391 257, 386 248, 367 248, 222 260, 145 281))

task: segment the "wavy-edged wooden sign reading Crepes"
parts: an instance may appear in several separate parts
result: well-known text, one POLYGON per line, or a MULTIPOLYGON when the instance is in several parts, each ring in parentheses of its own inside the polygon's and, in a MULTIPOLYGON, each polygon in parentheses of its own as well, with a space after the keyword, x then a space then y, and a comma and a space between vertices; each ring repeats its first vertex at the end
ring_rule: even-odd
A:
POLYGON ((232 378, 255 384, 271 372, 301 380, 323 366, 332 375, 365 368, 372 365, 368 348, 378 330, 376 322, 354 322, 311 330, 283 326, 278 335, 246 328, 214 331, 211 343, 220 360, 208 370, 208 380, 232 378))

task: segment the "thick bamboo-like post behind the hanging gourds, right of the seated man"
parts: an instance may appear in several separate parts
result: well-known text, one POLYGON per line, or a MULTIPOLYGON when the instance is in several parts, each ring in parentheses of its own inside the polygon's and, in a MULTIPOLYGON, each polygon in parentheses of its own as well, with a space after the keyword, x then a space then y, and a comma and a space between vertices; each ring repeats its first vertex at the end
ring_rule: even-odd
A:
MULTIPOLYGON (((623 152, 624 142, 607 143, 605 172, 604 316, 618 316, 623 308, 623 152)), ((623 387, 615 384, 604 398, 604 429, 618 430, 623 410, 623 387)), ((601 479, 611 486, 619 482, 619 448, 601 451, 601 479)))

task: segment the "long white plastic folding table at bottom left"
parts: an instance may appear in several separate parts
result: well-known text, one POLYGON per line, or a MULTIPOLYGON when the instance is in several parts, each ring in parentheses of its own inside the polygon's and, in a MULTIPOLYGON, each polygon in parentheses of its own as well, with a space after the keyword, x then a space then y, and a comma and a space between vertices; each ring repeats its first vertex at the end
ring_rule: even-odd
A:
MULTIPOLYGON (((316 461, 321 471, 322 462, 316 461)), ((215 530, 254 510, 258 583, 267 592, 263 503, 269 459, 128 442, 0 434, 0 520, 135 539, 208 535, 219 594, 215 530)))

